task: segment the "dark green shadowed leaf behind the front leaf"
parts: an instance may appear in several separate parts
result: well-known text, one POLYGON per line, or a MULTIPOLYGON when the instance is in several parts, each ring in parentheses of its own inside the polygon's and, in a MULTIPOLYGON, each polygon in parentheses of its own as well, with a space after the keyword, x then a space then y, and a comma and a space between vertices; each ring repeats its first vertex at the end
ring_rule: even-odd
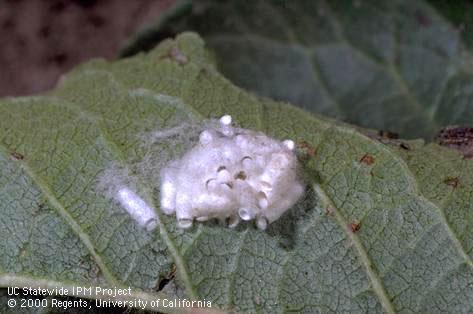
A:
POLYGON ((425 1, 181 1, 124 54, 193 30, 262 96, 405 138, 473 121, 471 56, 425 1))

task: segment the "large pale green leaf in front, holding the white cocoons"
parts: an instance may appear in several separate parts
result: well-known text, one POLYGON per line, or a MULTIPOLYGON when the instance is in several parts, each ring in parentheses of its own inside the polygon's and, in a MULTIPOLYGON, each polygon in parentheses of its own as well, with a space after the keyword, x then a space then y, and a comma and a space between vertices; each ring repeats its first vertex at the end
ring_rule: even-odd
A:
POLYGON ((472 310, 473 160, 258 99, 216 71, 195 34, 85 64, 48 95, 4 99, 0 117, 1 287, 130 286, 130 298, 236 312, 472 310), (223 114, 316 151, 305 197, 267 231, 179 230, 159 213, 158 182, 138 175, 159 213, 146 231, 97 189, 111 164, 149 153, 141 134, 223 114))

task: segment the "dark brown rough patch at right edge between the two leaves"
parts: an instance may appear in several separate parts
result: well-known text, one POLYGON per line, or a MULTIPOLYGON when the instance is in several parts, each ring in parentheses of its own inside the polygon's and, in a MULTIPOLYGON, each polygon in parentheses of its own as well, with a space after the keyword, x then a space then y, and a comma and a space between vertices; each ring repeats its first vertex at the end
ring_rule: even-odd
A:
POLYGON ((446 127, 440 130, 436 140, 439 145, 460 151, 464 158, 473 157, 472 127, 446 127))

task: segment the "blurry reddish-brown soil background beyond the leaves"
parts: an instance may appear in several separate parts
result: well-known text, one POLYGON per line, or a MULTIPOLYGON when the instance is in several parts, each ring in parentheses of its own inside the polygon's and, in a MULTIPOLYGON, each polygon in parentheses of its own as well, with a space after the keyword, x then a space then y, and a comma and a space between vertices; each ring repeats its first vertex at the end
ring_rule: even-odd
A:
POLYGON ((174 0, 0 0, 0 96, 51 89, 94 57, 113 59, 174 0))

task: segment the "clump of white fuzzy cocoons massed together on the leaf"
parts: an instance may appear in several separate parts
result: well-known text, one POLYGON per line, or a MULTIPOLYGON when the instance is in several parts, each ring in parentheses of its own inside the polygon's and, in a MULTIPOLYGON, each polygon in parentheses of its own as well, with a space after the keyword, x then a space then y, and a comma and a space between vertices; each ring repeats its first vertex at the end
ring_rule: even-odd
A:
POLYGON ((232 126, 223 116, 216 128, 161 171, 161 210, 177 224, 217 218, 230 227, 256 220, 259 229, 277 220, 304 192, 298 181, 295 144, 232 126))

